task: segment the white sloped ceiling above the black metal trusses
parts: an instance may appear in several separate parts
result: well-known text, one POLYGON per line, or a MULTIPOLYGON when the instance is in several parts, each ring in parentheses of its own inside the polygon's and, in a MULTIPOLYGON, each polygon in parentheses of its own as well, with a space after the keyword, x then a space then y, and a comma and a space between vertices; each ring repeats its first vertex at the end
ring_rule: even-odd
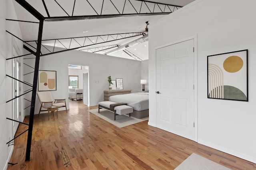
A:
MULTIPOLYGON (((128 1, 128 0, 127 0, 128 1)), ((142 2, 136 0, 130 0, 136 11, 147 10, 146 6, 140 8, 142 2)), ((185 6, 194 0, 150 0, 150 2, 170 4, 176 6, 185 6)), ((21 7, 15 0, 14 7, 18 20, 22 21, 35 21, 38 20, 32 16, 28 11, 21 7)), ((44 17, 48 17, 42 0, 27 0, 27 2, 35 8, 40 14, 44 17)), ((98 15, 102 10, 102 15, 115 14, 118 10, 119 12, 124 10, 126 14, 134 14, 131 8, 124 8, 125 0, 76 0, 76 5, 74 7, 74 0, 44 0, 50 17, 54 16, 88 16, 88 15, 98 15), (58 2, 60 6, 65 10, 62 10, 60 6, 56 3, 58 2), (103 3, 104 2, 104 3, 103 3), (113 4, 116 8, 113 6, 113 4), (102 6, 104 4, 104 6, 102 6), (93 8, 91 8, 91 6, 93 8)), ((148 8, 152 3, 148 3, 148 8)), ((152 4, 153 5, 153 4, 152 4)), ((161 5, 159 5, 161 8, 161 5)), ((156 10, 157 8, 154 8, 156 10)), ((160 10, 160 9, 159 9, 160 10)), ((147 12, 147 11, 146 11, 147 12)), ((145 13, 146 13, 145 12, 145 13)), ((109 35, 109 34, 118 34, 118 33, 136 33, 144 31, 146 27, 146 21, 148 23, 154 23, 165 15, 151 15, 151 16, 126 16, 126 17, 115 17, 115 18, 104 18, 104 19, 88 19, 88 20, 71 20, 71 21, 45 21, 43 27, 42 39, 61 39, 61 38, 71 38, 71 37, 87 37, 87 36, 96 36, 96 35, 109 35), (83 33, 83 31, 88 31, 83 33)), ((8 18, 12 19, 12 18, 8 18)), ((24 41, 36 41, 38 37, 38 23, 28 23, 28 22, 19 22, 20 29, 22 32, 22 38, 24 41)), ((150 29, 150 24, 148 25, 150 29)), ((134 39, 138 39, 141 36, 131 37, 127 39, 116 40, 108 43, 103 43, 100 45, 94 45, 93 47, 102 47, 107 45, 124 45, 134 39), (111 43, 111 44, 110 44, 111 43)), ((44 45, 54 46, 53 41, 43 41, 44 45)), ((31 43, 33 44, 33 43, 31 43)), ((35 43, 34 43, 35 44, 35 43)), ((110 51, 108 49, 106 51, 110 51)), ((105 53, 106 51, 101 51, 97 53, 105 53)), ((134 47, 128 49, 131 53, 136 55, 142 60, 148 59, 148 42, 141 43, 134 47)), ((133 59, 124 51, 113 53, 112 56, 124 57, 128 59, 133 59)))

